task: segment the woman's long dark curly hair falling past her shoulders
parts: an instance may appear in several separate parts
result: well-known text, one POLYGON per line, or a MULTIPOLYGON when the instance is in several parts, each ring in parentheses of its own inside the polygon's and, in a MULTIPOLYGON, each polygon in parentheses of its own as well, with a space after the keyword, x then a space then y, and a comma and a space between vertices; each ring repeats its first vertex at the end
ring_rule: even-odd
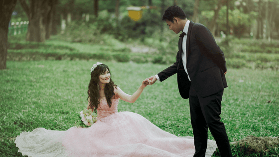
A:
MULTIPOLYGON (((92 72, 91 72, 91 80, 88 85, 88 98, 89 101, 89 108, 94 110, 95 113, 97 113, 97 108, 99 107, 100 101, 100 94, 99 94, 99 84, 100 81, 99 76, 107 71, 107 69, 110 72, 110 69, 105 64, 98 65, 92 72)), ((105 96, 108 102, 109 107, 112 106, 112 99, 115 98, 114 88, 117 87, 117 85, 114 84, 112 78, 110 79, 110 83, 106 84, 105 86, 105 96)))

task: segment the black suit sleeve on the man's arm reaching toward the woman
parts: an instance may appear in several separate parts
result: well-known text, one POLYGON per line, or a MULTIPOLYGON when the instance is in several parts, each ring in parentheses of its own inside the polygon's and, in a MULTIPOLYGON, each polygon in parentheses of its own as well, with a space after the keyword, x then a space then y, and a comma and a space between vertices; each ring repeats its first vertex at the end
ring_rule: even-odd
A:
POLYGON ((177 55, 176 55, 176 62, 173 63, 173 65, 169 66, 168 68, 164 69, 163 71, 161 71, 157 74, 160 78, 160 82, 162 82, 163 80, 165 80, 168 77, 177 73, 177 66, 178 66, 179 58, 180 58, 180 56, 179 56, 179 51, 178 51, 177 55))

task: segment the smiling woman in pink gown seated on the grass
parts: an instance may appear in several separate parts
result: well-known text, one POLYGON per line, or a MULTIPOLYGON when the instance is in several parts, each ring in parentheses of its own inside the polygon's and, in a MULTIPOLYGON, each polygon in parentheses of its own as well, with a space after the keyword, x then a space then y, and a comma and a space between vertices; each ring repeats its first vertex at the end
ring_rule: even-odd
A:
MULTIPOLYGON (((177 137, 165 132, 133 112, 119 112, 119 99, 135 102, 149 80, 142 81, 133 94, 126 94, 111 79, 107 65, 91 68, 88 109, 97 112, 97 122, 89 128, 67 131, 37 128, 16 137, 18 152, 29 157, 193 157, 192 137, 177 137)), ((216 150, 208 140, 206 157, 216 150)))

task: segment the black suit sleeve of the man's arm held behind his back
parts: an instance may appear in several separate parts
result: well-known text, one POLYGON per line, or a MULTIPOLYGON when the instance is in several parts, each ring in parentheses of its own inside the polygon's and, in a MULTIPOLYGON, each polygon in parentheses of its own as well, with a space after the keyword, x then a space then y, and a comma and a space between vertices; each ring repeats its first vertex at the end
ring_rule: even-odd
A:
POLYGON ((213 62, 220 67, 223 72, 227 71, 226 60, 223 51, 217 45, 212 33, 207 27, 200 24, 196 27, 195 35, 199 43, 207 52, 208 56, 213 60, 213 62))

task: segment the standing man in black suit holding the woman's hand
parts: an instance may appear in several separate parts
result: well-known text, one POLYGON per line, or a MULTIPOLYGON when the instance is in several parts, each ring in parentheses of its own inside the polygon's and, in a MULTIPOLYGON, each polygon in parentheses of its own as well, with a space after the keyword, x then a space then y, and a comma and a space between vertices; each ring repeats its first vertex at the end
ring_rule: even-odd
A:
POLYGON ((225 126, 220 121, 222 95, 224 88, 228 87, 224 53, 208 28, 188 20, 179 6, 167 8, 162 20, 176 34, 182 31, 179 50, 173 65, 148 79, 153 84, 177 73, 179 93, 182 98, 189 98, 196 150, 194 157, 205 156, 208 128, 221 157, 232 157, 225 126))

